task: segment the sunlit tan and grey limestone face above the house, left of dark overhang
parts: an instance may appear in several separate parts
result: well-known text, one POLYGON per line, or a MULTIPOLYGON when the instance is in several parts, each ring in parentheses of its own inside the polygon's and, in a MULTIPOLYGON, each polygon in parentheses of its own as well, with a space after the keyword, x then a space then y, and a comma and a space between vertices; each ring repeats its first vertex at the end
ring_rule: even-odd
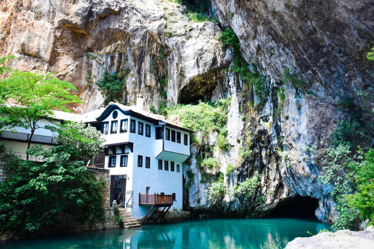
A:
POLYGON ((95 82, 104 70, 126 79, 124 103, 142 93, 149 110, 163 99, 176 103, 191 80, 230 60, 215 38, 220 28, 188 22, 186 8, 175 3, 6 0, 0 8, 1 54, 16 55, 13 67, 72 82, 85 102, 78 113, 103 103, 95 82))

